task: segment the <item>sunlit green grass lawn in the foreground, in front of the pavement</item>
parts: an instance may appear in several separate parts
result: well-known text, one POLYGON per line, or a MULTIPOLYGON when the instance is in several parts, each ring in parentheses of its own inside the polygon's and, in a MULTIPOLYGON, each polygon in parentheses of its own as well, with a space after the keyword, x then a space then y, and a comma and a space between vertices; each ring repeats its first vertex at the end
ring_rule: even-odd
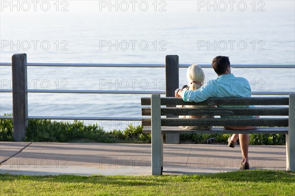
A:
POLYGON ((163 176, 0 174, 0 195, 294 196, 295 173, 250 170, 163 176))

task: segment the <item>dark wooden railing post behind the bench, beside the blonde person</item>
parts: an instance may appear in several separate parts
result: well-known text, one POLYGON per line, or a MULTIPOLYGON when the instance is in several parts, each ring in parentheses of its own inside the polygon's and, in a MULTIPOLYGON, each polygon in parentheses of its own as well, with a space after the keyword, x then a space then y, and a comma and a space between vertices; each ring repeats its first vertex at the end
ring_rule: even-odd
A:
MULTIPOLYGON (((166 97, 175 97, 175 90, 177 88, 179 88, 179 57, 178 55, 167 55, 166 97)), ((173 115, 167 117, 171 118, 173 115)), ((166 144, 179 144, 179 134, 166 134, 166 144)))

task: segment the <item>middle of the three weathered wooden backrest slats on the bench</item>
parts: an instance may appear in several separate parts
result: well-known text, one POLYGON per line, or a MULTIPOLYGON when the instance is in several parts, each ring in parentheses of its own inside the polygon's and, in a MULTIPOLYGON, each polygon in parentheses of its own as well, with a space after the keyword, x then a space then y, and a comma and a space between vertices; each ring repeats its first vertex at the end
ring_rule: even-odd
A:
MULTIPOLYGON (((150 108, 142 108, 142 116, 150 116, 150 108)), ((161 115, 252 115, 252 116, 288 116, 289 108, 280 107, 255 107, 255 108, 161 108, 161 115)))

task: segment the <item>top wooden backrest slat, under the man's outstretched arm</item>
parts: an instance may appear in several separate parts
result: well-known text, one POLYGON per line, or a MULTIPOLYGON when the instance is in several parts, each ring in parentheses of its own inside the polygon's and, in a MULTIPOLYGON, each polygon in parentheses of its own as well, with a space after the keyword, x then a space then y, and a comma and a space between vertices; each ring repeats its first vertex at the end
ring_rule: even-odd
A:
MULTIPOLYGON (((141 98, 150 105, 150 98, 141 98)), ((289 98, 208 98, 202 102, 184 102, 182 98, 161 98, 161 105, 289 105, 289 98)))

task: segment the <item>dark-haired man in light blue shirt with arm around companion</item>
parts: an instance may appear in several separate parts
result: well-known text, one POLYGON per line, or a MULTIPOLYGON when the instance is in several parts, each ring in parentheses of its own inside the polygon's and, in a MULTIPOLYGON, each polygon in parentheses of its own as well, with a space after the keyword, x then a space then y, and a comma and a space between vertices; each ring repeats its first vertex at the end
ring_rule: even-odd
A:
MULTIPOLYGON (((184 101, 201 102, 207 98, 227 98, 227 97, 251 97, 251 87, 247 79, 243 77, 235 77, 231 71, 231 63, 227 56, 216 56, 212 60, 212 67, 218 77, 210 80, 207 84, 195 91, 180 90, 175 91, 175 96, 183 98, 184 101)), ((218 106, 222 107, 222 106, 218 106)), ((248 106, 245 106, 248 107, 248 106)), ((252 116, 251 116, 252 117, 252 116)), ((245 116, 232 116, 222 118, 246 118, 245 116)), ((226 126, 227 129, 254 129, 252 126, 226 126)), ((249 134, 234 134, 229 138, 229 146, 235 147, 237 137, 239 138, 240 148, 242 152, 242 163, 240 169, 248 170, 248 148, 249 134)))

